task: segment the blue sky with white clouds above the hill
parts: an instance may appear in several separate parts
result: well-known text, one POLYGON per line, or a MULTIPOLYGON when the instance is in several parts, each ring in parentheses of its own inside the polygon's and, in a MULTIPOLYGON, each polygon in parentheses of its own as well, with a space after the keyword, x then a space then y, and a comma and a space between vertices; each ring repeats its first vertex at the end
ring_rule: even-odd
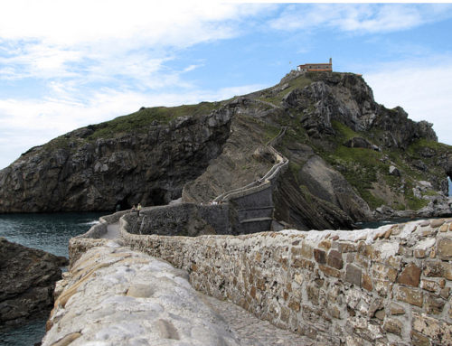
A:
POLYGON ((450 33, 451 4, 5 0, 0 169, 76 128, 265 89, 330 57, 452 145, 450 33))

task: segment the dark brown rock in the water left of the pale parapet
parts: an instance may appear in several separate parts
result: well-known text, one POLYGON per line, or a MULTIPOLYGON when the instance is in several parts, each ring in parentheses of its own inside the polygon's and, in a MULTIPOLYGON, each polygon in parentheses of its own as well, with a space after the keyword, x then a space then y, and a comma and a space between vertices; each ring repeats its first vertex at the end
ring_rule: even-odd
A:
POLYGON ((0 238, 0 329, 49 313, 66 258, 0 238))

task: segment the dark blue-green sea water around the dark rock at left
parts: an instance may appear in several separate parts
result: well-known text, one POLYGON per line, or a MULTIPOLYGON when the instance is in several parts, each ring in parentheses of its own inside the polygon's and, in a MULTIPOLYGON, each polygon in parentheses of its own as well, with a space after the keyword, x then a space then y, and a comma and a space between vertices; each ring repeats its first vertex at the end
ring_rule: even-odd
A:
MULTIPOLYGON (((106 212, 0 214, 0 237, 56 256, 69 257, 69 239, 86 233, 106 212)), ((0 332, 0 346, 33 346, 45 335, 46 319, 0 332)))

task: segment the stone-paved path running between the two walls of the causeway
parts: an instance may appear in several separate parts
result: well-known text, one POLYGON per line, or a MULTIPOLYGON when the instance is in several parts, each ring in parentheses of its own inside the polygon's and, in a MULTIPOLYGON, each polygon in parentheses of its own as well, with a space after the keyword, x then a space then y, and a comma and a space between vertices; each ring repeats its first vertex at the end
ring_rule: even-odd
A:
MULTIPOLYGON (((116 222, 108 225, 108 231, 102 238, 119 237, 119 222, 116 222)), ((325 346, 325 343, 315 342, 306 336, 279 329, 268 321, 260 321, 252 313, 229 301, 221 301, 209 295, 204 296, 224 317, 243 346, 325 346)))

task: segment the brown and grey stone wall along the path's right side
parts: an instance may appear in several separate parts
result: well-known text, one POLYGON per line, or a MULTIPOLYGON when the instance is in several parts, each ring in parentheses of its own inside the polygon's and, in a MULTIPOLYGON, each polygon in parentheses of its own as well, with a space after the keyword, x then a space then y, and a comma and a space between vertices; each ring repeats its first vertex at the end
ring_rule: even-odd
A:
POLYGON ((192 285, 333 345, 452 344, 452 220, 239 237, 128 234, 192 285))

